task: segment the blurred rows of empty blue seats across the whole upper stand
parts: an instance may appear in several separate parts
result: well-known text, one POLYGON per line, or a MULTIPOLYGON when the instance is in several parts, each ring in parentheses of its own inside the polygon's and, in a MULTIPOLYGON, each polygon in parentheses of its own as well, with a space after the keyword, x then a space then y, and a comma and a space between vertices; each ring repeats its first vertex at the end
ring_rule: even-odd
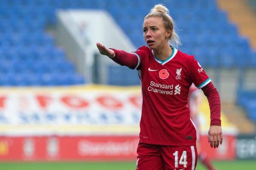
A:
MULTIPOLYGON (((65 59, 64 51, 55 46, 54 38, 44 32, 47 25, 56 23, 55 10, 75 8, 108 11, 138 48, 145 45, 143 19, 157 3, 165 4, 170 10, 183 43, 179 49, 195 55, 203 67, 256 67, 255 51, 250 49, 248 40, 238 34, 236 26, 228 21, 227 14, 218 9, 215 0, 147 0, 147 3, 143 0, 1 0, 0 66, 4 66, 0 69, 0 74, 13 72, 12 68, 15 70, 12 74, 32 74, 34 78, 22 78, 25 81, 22 85, 84 83, 85 80, 76 73, 72 63, 65 59), (50 65, 47 64, 49 60, 50 65), (50 82, 49 77, 61 76, 61 73, 61 80, 50 82), (66 73, 71 75, 65 76, 66 73)), ((128 69, 116 67, 119 73, 130 73, 128 69)), ((109 68, 109 71, 111 69, 113 68, 109 68)), ((130 75, 133 77, 129 82, 118 76, 109 77, 108 82, 116 85, 138 85, 139 81, 132 81, 138 79, 137 74, 130 75)), ((6 82, 0 85, 6 85, 6 82)))

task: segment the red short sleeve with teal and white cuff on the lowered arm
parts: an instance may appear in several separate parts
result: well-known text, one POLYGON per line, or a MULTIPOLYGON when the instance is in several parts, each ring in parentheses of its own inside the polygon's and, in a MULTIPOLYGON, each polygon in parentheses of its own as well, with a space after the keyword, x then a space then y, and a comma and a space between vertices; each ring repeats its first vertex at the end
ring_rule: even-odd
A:
POLYGON ((201 67, 199 62, 192 56, 189 62, 189 77, 197 88, 203 88, 211 79, 208 77, 204 69, 201 67))

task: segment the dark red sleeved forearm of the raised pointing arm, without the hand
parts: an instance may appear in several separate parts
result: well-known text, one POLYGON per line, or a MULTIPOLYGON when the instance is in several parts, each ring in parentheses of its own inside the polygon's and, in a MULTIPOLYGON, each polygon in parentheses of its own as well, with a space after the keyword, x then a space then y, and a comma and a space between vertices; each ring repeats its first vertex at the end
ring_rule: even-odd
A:
POLYGON ((111 48, 115 52, 115 57, 111 58, 114 62, 119 65, 125 65, 131 69, 134 69, 138 66, 139 58, 136 54, 128 53, 123 50, 116 50, 111 48))

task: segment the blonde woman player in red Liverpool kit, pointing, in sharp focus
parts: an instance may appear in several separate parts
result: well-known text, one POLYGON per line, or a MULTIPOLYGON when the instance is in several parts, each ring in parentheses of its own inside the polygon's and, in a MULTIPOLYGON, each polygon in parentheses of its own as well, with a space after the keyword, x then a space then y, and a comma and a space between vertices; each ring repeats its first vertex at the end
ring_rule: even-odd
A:
POLYGON ((195 170, 196 129, 187 107, 189 87, 194 82, 208 98, 208 137, 214 148, 222 143, 218 91, 194 57, 175 48, 179 37, 165 6, 156 5, 145 16, 143 36, 148 46, 133 53, 96 43, 101 54, 139 73, 143 104, 137 170, 195 170))

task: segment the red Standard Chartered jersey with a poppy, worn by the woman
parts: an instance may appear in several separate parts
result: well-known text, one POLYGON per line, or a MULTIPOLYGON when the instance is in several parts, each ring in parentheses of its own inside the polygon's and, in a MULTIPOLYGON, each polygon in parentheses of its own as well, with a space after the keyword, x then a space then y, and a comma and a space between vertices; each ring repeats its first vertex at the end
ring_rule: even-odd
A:
POLYGON ((173 48, 171 56, 160 61, 153 51, 140 47, 139 58, 143 105, 140 142, 173 146, 196 143, 196 129, 190 119, 187 99, 192 82, 198 87, 211 80, 193 56, 173 48))

